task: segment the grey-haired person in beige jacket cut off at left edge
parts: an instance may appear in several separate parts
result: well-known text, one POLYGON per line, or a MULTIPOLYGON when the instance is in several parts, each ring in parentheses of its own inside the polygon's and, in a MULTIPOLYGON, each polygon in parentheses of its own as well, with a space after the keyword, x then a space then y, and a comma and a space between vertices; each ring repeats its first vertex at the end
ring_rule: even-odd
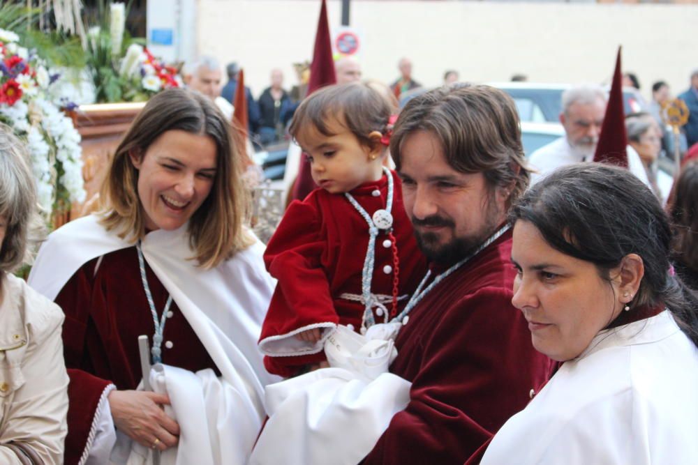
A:
POLYGON ((0 463, 62 464, 68 411, 63 313, 12 274, 40 224, 29 157, 0 126, 0 463))

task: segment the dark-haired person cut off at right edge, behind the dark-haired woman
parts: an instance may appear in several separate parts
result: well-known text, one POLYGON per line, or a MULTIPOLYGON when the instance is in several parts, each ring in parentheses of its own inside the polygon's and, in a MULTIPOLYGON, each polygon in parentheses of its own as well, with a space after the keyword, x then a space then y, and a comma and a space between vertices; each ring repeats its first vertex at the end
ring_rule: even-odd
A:
POLYGON ((674 223, 674 266, 686 284, 698 289, 698 162, 681 169, 673 201, 669 213, 674 223))

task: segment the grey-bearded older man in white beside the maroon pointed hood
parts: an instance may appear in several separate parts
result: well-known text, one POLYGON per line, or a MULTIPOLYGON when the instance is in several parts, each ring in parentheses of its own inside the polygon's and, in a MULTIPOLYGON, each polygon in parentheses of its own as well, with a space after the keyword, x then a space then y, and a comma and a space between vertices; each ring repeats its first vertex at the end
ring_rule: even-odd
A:
MULTIPOLYGON (((596 85, 576 86, 563 92, 560 123, 565 129, 565 135, 530 155, 532 183, 556 168, 593 160, 607 100, 606 91, 596 85)), ((649 185, 645 168, 637 153, 631 146, 627 146, 626 151, 632 174, 649 185)))

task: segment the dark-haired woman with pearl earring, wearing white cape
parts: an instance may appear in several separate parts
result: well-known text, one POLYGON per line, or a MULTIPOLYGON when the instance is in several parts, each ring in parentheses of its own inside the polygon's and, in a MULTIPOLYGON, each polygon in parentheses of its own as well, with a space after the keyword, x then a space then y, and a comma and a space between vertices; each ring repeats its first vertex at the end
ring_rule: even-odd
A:
POLYGON ((697 464, 698 299, 630 171, 571 165, 514 206, 512 303, 562 364, 482 464, 697 464))

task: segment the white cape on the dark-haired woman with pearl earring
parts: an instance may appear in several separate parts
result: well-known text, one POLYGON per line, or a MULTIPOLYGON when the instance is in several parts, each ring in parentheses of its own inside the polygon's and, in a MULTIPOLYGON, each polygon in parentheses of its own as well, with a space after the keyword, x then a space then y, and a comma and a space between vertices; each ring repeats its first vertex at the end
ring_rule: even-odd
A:
POLYGON ((698 349, 669 311, 604 330, 494 436, 482 465, 698 464, 698 349))

